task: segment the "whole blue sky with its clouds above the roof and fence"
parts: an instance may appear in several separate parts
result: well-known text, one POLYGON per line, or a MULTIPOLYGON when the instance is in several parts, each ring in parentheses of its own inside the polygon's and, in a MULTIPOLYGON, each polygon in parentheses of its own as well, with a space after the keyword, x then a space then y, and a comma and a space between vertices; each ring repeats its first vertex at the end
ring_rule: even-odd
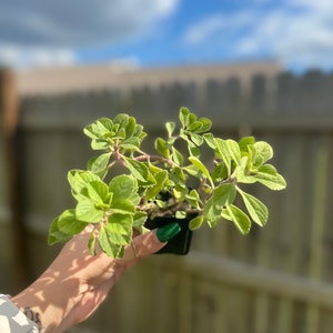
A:
POLYGON ((0 0, 0 63, 333 69, 332 0, 0 0))

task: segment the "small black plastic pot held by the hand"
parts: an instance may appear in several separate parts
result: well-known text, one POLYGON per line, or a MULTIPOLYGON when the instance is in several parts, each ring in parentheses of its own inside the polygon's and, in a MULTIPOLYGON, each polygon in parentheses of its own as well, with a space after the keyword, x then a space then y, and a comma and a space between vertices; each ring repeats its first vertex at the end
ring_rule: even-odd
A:
POLYGON ((167 224, 171 224, 176 222, 181 231, 171 239, 165 246, 163 246, 160 251, 155 254, 163 254, 163 253, 173 253, 185 255, 190 251, 191 241, 192 241, 192 231, 189 229, 189 222, 191 219, 175 219, 172 216, 158 216, 153 220, 148 220, 145 222, 145 226, 150 230, 157 229, 167 224))

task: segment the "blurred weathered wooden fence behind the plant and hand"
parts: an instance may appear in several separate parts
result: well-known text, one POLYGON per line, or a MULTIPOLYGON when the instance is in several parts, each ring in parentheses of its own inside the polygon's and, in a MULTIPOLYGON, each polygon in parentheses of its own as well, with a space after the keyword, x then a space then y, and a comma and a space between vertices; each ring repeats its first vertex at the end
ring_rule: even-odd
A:
MULTIPOLYGON (((91 155, 82 127, 129 112, 148 132, 162 135, 161 124, 186 105, 211 118, 213 131, 224 138, 253 134, 270 142, 287 189, 256 189, 270 210, 265 228, 253 226, 248 236, 229 223, 203 228, 194 233, 189 255, 153 255, 135 266, 98 313, 71 332, 331 333, 332 91, 333 75, 313 71, 256 75, 250 88, 230 78, 200 87, 189 82, 23 98, 16 145, 20 199, 13 205, 20 205, 24 223, 1 215, 1 240, 9 223, 21 225, 17 232, 28 240, 21 244, 28 254, 24 274, 37 276, 59 250, 46 243, 50 221, 72 204, 67 171, 84 168, 91 155)), ((6 198, 2 191, 2 211, 9 211, 6 198)), ((10 262, 3 251, 1 272, 10 262)), ((9 276, 1 273, 1 283, 14 291, 9 276)))

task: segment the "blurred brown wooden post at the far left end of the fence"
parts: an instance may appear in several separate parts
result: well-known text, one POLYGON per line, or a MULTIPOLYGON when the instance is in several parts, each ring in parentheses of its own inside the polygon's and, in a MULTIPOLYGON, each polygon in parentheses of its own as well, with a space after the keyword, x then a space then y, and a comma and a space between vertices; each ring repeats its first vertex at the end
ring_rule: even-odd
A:
POLYGON ((19 100, 16 90, 14 73, 0 69, 0 115, 1 135, 4 143, 7 193, 11 220, 11 238, 14 258, 14 289, 28 283, 28 238, 23 221, 23 198, 21 195, 21 163, 19 151, 19 100))

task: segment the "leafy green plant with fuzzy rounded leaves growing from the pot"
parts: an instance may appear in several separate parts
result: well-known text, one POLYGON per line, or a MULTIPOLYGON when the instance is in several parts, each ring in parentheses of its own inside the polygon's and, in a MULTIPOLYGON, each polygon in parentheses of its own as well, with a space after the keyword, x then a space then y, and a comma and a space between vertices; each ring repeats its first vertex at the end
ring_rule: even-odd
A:
POLYGON ((69 171, 77 205, 52 222, 49 243, 68 241, 91 224, 91 253, 98 242, 108 255, 120 258, 133 229, 145 232, 148 218, 192 214, 192 230, 204 222, 213 228, 230 220, 243 234, 250 231, 251 220, 264 225, 268 208, 240 185, 285 188, 283 176, 266 163, 273 157, 272 147, 253 137, 239 142, 214 137, 211 121, 186 108, 181 108, 179 120, 180 127, 165 123, 168 135, 155 139, 153 154, 141 149, 147 133, 133 117, 122 113, 85 127, 91 148, 101 154, 89 160, 87 170, 69 171), (203 163, 203 150, 211 153, 212 168, 203 163), (120 174, 110 180, 119 167, 120 174), (235 204, 236 196, 242 198, 244 209, 235 204))

